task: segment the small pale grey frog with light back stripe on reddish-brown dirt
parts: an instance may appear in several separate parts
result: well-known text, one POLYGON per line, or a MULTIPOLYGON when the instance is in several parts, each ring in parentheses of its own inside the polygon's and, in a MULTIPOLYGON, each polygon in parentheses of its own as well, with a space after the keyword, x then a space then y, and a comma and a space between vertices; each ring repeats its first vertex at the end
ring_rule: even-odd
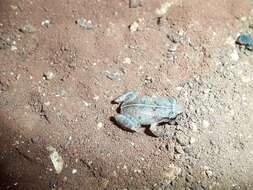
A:
POLYGON ((148 126, 151 132, 156 131, 160 124, 169 123, 184 112, 183 105, 175 98, 140 96, 136 91, 126 91, 113 103, 120 104, 114 120, 132 132, 140 132, 141 126, 148 126))

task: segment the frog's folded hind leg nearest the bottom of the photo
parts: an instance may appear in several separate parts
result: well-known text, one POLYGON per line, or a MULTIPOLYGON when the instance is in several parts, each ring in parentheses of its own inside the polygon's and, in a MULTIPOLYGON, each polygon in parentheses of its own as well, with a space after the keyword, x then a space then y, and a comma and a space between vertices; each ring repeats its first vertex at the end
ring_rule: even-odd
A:
POLYGON ((130 129, 131 131, 139 132, 140 124, 134 117, 118 114, 114 118, 120 126, 130 129))

